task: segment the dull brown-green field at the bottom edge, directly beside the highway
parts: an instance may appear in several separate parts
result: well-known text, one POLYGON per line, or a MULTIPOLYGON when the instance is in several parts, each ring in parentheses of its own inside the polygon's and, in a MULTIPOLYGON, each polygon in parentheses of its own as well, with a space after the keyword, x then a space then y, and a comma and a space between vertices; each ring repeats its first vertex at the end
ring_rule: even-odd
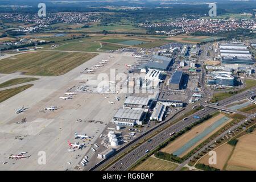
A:
POLYGON ((176 167, 175 163, 150 157, 133 168, 132 171, 173 171, 176 167))

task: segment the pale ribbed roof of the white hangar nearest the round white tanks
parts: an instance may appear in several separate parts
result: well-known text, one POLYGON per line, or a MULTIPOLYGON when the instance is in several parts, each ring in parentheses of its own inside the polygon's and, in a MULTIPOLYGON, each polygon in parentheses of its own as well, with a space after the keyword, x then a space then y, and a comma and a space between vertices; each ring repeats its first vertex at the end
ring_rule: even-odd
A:
POLYGON ((139 120, 143 114, 144 112, 142 110, 118 109, 117 113, 114 115, 114 118, 139 120))

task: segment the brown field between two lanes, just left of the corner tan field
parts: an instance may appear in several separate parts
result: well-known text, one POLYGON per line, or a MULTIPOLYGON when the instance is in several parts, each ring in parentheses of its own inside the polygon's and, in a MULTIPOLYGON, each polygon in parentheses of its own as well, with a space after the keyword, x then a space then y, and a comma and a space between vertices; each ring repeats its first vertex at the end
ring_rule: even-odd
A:
POLYGON ((230 144, 226 143, 216 149, 214 149, 214 151, 217 154, 217 164, 209 164, 209 153, 206 154, 205 156, 203 156, 203 158, 201 158, 199 160, 198 163, 202 163, 205 165, 209 165, 218 169, 223 169, 225 166, 225 163, 227 162, 227 160, 229 159, 229 156, 232 154, 234 146, 231 146, 230 144))

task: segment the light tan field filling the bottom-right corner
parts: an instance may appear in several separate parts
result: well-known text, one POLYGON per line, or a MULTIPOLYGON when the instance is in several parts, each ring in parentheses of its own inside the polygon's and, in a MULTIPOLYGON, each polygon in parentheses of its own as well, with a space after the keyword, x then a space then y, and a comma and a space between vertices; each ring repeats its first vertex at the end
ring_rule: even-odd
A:
POLYGON ((233 155, 228 161, 227 170, 256 170, 256 131, 238 139, 233 155))

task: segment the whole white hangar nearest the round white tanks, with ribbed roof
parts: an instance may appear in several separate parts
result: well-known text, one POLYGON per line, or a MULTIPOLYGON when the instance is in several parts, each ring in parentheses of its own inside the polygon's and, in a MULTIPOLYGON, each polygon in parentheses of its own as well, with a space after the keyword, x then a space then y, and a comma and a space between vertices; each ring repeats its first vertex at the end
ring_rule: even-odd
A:
POLYGON ((115 113, 112 122, 119 126, 142 125, 145 116, 146 114, 142 110, 121 108, 115 113))

